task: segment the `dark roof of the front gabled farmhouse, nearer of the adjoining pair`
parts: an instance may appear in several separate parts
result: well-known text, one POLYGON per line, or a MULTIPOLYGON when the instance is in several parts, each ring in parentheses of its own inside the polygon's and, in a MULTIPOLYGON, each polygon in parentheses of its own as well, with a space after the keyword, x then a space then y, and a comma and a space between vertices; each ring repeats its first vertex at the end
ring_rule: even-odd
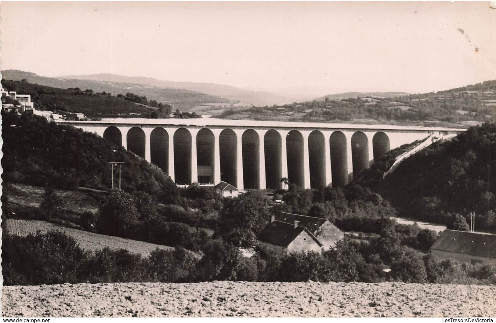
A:
POLYGON ((315 236, 309 232, 305 227, 298 226, 295 228, 294 224, 281 222, 275 220, 269 223, 265 229, 258 235, 258 240, 266 242, 276 246, 287 247, 293 240, 296 239, 303 231, 307 231, 310 237, 315 241, 316 244, 322 246, 322 244, 315 238, 315 236))

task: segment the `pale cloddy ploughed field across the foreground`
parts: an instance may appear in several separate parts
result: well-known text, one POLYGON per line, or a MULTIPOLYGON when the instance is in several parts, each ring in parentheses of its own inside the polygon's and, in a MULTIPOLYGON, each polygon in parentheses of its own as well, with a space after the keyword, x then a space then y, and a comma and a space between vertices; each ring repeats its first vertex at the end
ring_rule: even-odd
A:
POLYGON ((495 317, 495 285, 317 282, 3 286, 4 317, 495 317))

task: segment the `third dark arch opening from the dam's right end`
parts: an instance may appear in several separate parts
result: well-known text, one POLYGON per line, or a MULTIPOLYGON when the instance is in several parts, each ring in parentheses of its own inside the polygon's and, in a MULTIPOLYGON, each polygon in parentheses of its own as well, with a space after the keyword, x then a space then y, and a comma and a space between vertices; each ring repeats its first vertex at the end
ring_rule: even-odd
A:
POLYGON ((331 177, 333 187, 343 187, 348 184, 348 163, 346 136, 341 131, 334 131, 329 139, 331 153, 331 177))

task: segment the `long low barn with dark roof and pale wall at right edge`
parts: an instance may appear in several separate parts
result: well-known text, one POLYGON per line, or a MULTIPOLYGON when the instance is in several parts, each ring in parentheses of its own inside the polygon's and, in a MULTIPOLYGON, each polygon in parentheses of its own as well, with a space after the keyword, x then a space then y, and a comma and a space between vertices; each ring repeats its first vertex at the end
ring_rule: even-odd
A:
POLYGON ((496 264, 496 235, 444 230, 431 247, 431 253, 440 258, 496 264))

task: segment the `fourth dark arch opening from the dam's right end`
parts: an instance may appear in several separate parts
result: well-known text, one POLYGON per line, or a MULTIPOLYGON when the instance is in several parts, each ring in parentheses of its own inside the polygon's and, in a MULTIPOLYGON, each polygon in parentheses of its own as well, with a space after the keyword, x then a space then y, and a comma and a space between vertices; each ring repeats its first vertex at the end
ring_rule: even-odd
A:
POLYGON ((312 131, 309 135, 310 188, 324 188, 325 183, 325 138, 322 132, 312 131))

